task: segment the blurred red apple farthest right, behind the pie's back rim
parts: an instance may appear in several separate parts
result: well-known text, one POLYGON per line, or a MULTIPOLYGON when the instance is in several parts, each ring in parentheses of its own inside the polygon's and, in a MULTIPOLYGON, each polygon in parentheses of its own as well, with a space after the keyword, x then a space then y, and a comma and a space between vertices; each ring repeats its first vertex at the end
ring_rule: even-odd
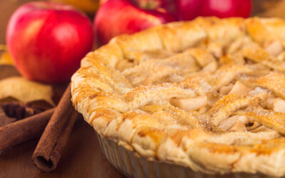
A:
POLYGON ((250 0, 204 0, 201 15, 220 18, 241 16, 249 17, 252 4, 250 0))

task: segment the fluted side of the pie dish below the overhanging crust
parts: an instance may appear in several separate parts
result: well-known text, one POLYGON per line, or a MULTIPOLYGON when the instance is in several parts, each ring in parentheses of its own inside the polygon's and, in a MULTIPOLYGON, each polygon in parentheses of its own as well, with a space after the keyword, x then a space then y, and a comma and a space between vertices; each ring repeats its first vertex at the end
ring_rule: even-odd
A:
POLYGON ((231 173, 231 174, 203 174, 194 172, 188 167, 176 165, 171 162, 160 162, 147 160, 140 157, 135 152, 126 149, 117 142, 95 132, 98 137, 100 148, 113 166, 122 172, 126 177, 146 178, 146 177, 165 177, 165 178, 269 178, 264 174, 231 173))

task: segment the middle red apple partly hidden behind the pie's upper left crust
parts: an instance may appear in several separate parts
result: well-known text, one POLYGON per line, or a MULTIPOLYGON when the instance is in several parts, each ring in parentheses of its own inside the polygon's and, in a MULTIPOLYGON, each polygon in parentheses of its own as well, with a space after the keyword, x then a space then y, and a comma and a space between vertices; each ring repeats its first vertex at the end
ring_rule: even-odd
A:
POLYGON ((108 0, 100 6, 95 19, 95 36, 99 44, 122 33, 135 33, 161 23, 174 21, 165 9, 141 9, 127 0, 108 0))

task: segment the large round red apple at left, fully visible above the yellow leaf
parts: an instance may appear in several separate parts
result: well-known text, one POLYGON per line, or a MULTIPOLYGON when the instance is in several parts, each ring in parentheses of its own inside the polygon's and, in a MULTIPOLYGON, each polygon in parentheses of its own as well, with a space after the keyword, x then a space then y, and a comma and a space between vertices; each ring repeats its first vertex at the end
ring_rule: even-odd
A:
POLYGON ((92 24, 72 6, 31 2, 11 16, 6 43, 22 75, 59 83, 70 79, 91 50, 92 24))

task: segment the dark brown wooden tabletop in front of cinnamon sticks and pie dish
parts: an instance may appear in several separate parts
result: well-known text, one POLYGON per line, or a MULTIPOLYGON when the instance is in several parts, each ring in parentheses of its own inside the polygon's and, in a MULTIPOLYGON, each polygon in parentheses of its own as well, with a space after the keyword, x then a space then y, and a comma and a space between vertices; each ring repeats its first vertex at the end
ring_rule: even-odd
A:
POLYGON ((0 153, 0 177, 123 177, 100 150, 95 131, 85 121, 76 122, 68 146, 53 172, 41 172, 31 162, 38 139, 0 153))

